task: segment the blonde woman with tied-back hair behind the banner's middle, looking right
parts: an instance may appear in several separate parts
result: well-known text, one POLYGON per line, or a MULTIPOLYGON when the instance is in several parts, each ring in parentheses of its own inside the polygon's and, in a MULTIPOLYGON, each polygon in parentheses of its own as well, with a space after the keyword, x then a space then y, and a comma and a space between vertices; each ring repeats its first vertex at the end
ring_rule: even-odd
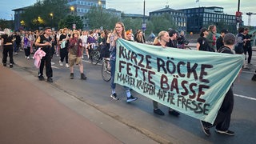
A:
MULTIPOLYGON (((160 31, 160 33, 158 34, 158 37, 156 38, 156 40, 154 40, 153 45, 154 46, 162 46, 162 48, 165 49, 168 42, 170 42, 170 36, 169 36, 168 32, 160 31)), ((162 110, 160 110, 158 108, 158 102, 153 101, 153 107, 154 107, 154 114, 165 115, 165 113, 163 113, 162 110)), ((169 108, 169 114, 174 115, 174 116, 179 115, 178 111, 170 109, 170 108, 169 108)))

